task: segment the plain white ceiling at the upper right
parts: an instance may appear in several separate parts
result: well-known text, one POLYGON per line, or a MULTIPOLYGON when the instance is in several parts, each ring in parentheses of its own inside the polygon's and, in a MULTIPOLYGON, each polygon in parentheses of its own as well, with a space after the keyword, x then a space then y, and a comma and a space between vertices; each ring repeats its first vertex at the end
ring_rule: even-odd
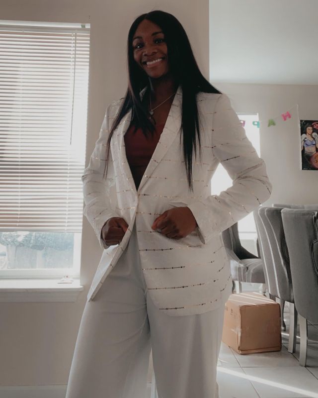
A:
POLYGON ((210 81, 318 84, 318 0, 210 0, 210 81))

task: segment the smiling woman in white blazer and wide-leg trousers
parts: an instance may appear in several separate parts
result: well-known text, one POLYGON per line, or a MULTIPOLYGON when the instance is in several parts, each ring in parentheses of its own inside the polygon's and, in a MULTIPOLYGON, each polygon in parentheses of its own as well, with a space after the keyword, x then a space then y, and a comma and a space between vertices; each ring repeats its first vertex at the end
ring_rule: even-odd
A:
POLYGON ((173 15, 140 15, 127 44, 126 96, 108 106, 82 176, 84 215, 105 250, 66 398, 145 397, 151 349, 160 398, 218 398, 232 292, 221 234, 268 199, 271 184, 173 15), (212 196, 221 162, 233 185, 212 196))

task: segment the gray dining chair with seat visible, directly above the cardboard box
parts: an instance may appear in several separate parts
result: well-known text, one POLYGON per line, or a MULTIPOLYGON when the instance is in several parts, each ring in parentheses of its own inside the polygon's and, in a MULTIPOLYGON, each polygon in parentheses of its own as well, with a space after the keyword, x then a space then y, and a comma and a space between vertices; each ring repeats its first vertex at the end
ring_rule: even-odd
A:
POLYGON ((224 230, 222 238, 230 260, 232 279, 238 281, 237 293, 242 292, 242 282, 249 282, 262 284, 262 291, 265 294, 263 262, 241 245, 238 223, 224 230))

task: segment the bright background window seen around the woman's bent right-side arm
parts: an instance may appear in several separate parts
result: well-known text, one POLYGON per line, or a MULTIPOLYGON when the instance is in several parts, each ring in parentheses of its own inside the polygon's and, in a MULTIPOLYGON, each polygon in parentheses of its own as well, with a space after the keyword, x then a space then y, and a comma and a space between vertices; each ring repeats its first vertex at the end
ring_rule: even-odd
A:
MULTIPOLYGON (((260 156, 259 128, 253 124, 253 121, 258 121, 258 115, 239 113, 238 116, 240 120, 245 120, 244 129, 246 136, 256 149, 258 156, 260 156)), ((222 191, 231 186, 232 180, 230 176, 225 168, 219 164, 212 178, 212 195, 220 195, 222 191)), ((239 220, 239 236, 242 239, 254 239, 256 236, 256 226, 252 213, 247 214, 246 217, 239 220)))

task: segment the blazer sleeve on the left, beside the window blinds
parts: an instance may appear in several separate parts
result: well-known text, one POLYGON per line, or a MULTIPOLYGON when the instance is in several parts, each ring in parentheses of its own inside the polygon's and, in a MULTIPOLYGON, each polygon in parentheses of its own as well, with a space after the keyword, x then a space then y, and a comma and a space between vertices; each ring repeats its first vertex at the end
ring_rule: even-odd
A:
POLYGON ((111 165, 111 150, 109 150, 109 162, 107 178, 103 177, 106 161, 106 144, 109 136, 109 114, 113 103, 110 104, 100 128, 99 138, 95 143, 95 148, 90 156, 88 166, 85 168, 81 181, 83 184, 84 209, 83 214, 93 227, 98 242, 103 249, 107 249, 101 237, 101 230, 105 222, 111 217, 118 217, 112 209, 110 203, 110 186, 115 181, 109 176, 109 166, 111 165))

